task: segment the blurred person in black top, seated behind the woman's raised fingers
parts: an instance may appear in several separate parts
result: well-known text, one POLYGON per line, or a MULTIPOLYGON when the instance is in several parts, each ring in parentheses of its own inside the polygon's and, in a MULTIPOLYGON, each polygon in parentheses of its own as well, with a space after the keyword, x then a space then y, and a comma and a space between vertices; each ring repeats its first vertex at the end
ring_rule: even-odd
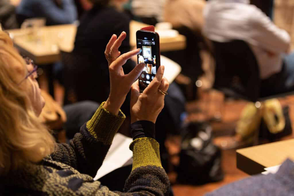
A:
MULTIPOLYGON (((104 57, 103 45, 113 34, 126 32, 126 38, 120 47, 121 53, 130 50, 129 23, 130 18, 121 11, 123 3, 127 0, 88 0, 93 4, 92 9, 87 11, 80 20, 74 51, 87 50, 95 53, 101 64, 108 66, 104 57), (101 53, 99 52, 101 51, 101 53)), ((127 63, 130 64, 131 61, 127 63)), ((131 63, 133 66, 134 64, 131 63)))

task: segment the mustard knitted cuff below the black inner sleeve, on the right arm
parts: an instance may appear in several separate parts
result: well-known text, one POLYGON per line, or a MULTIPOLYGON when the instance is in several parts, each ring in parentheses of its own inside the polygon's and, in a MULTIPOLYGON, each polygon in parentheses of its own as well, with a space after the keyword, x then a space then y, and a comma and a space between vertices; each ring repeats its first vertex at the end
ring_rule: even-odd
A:
POLYGON ((133 151, 132 170, 147 165, 161 167, 159 144, 153 138, 137 138, 130 144, 133 151))

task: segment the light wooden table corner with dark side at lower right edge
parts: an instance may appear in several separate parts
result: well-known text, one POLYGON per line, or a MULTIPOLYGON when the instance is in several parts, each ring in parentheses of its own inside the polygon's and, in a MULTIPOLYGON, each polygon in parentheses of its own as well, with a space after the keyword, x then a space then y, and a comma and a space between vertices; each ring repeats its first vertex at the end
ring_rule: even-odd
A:
POLYGON ((294 139, 237 150, 237 167, 243 172, 260 174, 265 167, 280 165, 287 158, 294 160, 294 139))

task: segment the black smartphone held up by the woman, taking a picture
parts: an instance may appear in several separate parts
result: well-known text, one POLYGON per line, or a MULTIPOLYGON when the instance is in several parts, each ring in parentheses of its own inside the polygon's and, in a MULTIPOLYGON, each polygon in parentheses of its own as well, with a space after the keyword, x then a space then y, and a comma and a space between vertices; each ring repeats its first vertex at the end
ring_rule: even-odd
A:
POLYGON ((159 35, 154 31, 139 30, 136 32, 137 48, 142 51, 138 54, 138 63, 145 63, 139 76, 140 93, 150 84, 160 66, 159 35))

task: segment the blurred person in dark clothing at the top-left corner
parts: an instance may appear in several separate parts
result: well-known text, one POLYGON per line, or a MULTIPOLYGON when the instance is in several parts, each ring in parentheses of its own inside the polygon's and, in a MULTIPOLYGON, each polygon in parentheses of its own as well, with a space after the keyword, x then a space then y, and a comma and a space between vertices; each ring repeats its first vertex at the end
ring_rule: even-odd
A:
POLYGON ((16 7, 21 0, 0 0, 0 23, 3 29, 17 29, 16 7))

